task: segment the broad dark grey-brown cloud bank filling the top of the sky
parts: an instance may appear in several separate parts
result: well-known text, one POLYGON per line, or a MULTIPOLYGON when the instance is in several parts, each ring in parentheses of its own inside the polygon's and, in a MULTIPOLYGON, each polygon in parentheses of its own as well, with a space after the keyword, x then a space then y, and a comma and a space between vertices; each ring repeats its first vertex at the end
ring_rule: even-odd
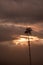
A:
POLYGON ((43 19, 43 0, 0 0, 0 17, 43 19))

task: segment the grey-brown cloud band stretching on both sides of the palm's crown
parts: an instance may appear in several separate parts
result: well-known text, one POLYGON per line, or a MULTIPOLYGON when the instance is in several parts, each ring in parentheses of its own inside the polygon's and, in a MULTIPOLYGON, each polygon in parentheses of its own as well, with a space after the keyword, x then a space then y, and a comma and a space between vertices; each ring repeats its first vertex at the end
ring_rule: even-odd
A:
MULTIPOLYGON (((34 25, 35 26, 35 25, 34 25)), ((32 27, 33 29, 34 27, 32 27)), ((17 36, 19 35, 25 35, 25 29, 26 27, 19 26, 18 24, 12 24, 12 23, 0 23, 0 42, 1 41, 8 41, 17 39, 17 36)), ((40 29, 40 28, 39 28, 40 29)), ((32 31, 33 36, 38 36, 39 38, 43 38, 43 30, 39 30, 39 32, 36 31, 37 28, 35 28, 32 31)))

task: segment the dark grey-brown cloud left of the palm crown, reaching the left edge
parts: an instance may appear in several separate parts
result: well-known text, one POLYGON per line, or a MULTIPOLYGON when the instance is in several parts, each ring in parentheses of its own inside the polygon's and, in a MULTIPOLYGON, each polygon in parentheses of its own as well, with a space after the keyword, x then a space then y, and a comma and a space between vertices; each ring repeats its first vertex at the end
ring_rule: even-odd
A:
POLYGON ((0 25, 0 42, 16 39, 16 35, 22 34, 23 30, 24 28, 14 25, 0 25))

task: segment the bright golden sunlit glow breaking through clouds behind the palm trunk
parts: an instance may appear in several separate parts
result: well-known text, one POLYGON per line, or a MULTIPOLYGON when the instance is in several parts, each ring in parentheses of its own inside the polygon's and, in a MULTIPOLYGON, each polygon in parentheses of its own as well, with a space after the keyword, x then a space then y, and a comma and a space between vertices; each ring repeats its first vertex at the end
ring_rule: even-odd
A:
MULTIPOLYGON (((36 40, 39 40, 38 37, 36 36, 29 36, 29 41, 36 41, 36 40)), ((15 43, 16 45, 20 44, 20 45, 28 45, 27 42, 28 42, 28 36, 25 36, 25 35, 20 35, 19 37, 17 37, 16 40, 13 40, 12 41, 13 43, 15 43)))

